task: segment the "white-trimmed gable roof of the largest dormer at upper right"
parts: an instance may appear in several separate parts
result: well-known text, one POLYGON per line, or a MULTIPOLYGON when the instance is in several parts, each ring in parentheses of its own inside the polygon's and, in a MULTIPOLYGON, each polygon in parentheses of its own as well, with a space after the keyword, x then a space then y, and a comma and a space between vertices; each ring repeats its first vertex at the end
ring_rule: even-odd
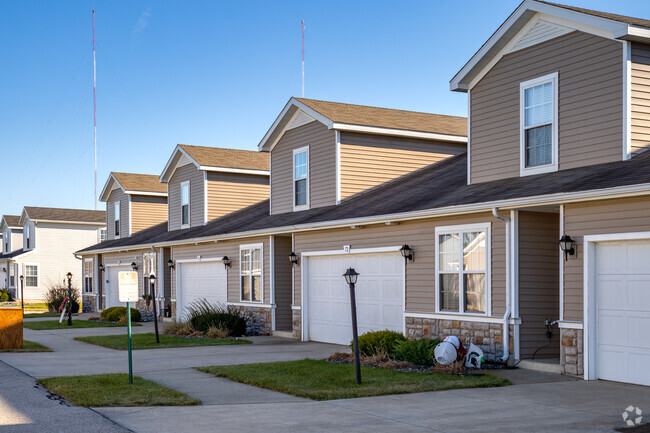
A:
POLYGON ((451 90, 466 92, 540 18, 570 31, 579 30, 608 39, 650 42, 648 20, 542 0, 524 0, 451 79, 451 90))

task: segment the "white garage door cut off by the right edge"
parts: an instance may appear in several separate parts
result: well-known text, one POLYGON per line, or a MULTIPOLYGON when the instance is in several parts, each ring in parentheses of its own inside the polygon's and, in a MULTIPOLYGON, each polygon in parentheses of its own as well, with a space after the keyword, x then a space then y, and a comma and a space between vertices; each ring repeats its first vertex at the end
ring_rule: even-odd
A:
POLYGON ((650 385, 650 241, 597 245, 600 379, 650 385))

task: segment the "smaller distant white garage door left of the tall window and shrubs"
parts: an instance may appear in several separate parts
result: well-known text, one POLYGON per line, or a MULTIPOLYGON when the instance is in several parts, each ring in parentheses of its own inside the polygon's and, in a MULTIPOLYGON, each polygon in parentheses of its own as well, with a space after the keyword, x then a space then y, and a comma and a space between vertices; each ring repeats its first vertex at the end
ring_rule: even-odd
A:
POLYGON ((198 299, 225 305, 227 293, 226 268, 221 261, 179 264, 176 300, 181 318, 187 307, 198 299))

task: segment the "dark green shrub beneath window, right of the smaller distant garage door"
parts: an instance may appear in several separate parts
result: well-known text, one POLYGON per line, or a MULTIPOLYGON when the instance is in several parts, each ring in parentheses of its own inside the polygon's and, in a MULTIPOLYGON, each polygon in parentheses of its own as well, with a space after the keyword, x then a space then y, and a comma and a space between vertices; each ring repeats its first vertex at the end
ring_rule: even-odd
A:
POLYGON ((192 302, 187 307, 186 321, 201 332, 207 332, 211 326, 228 331, 233 337, 246 334, 246 319, 235 308, 212 305, 205 299, 192 302))

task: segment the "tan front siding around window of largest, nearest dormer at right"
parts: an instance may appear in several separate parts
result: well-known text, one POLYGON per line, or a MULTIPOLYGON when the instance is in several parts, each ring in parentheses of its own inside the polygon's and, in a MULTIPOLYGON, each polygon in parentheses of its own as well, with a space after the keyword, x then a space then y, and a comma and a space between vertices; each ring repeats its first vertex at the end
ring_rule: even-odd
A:
POLYGON ((521 82, 559 73, 559 169, 618 161, 621 43, 581 32, 505 55, 471 89, 471 182, 519 176, 521 82))

